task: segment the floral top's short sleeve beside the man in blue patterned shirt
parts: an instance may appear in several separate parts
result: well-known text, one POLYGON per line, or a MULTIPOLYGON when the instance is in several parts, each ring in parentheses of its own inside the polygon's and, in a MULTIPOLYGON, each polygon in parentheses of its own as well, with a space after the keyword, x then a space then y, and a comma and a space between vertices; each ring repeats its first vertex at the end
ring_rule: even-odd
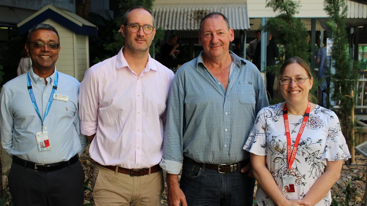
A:
POLYGON ((255 155, 264 156, 268 153, 266 148, 266 132, 265 132, 265 110, 259 111, 255 119, 254 128, 252 128, 243 149, 255 155))

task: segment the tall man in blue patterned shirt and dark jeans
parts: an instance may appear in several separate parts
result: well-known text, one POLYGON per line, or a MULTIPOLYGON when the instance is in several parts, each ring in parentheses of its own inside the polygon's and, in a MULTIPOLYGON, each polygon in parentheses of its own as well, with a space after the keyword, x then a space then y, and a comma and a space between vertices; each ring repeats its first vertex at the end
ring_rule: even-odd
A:
POLYGON ((205 16, 203 51, 172 82, 160 163, 169 205, 252 205, 255 179, 242 147, 268 98, 258 69, 229 51, 233 39, 223 14, 205 16))

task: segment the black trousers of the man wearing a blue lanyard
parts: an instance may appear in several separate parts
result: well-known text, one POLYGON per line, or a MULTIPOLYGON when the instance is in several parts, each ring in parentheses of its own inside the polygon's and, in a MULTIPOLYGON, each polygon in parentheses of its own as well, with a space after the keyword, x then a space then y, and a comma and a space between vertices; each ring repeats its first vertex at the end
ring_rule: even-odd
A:
POLYGON ((84 171, 79 160, 52 172, 35 172, 14 162, 8 175, 14 206, 81 206, 84 171))

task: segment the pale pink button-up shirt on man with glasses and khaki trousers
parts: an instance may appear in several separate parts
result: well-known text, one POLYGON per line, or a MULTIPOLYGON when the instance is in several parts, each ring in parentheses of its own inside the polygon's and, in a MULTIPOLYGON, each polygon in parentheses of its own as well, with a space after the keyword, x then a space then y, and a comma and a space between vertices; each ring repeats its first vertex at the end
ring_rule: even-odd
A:
POLYGON ((149 168, 163 154, 166 100, 174 73, 149 56, 142 73, 119 54, 86 71, 79 90, 80 130, 101 165, 149 168))

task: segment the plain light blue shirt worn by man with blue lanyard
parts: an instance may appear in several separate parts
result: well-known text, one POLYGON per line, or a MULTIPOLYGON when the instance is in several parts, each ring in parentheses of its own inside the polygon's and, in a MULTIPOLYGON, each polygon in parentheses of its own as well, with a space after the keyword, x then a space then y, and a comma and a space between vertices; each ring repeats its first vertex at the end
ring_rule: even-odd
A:
MULTIPOLYGON (((29 77, 41 117, 44 117, 50 98, 55 72, 40 78, 29 70, 29 77)), ((36 133, 42 131, 42 121, 34 110, 27 89, 27 73, 3 85, 0 94, 0 134, 3 148, 12 157, 26 159, 35 163, 55 163, 66 161, 86 147, 88 141, 80 133, 78 114, 79 82, 59 72, 57 91, 68 96, 68 102, 54 99, 50 111, 44 119, 44 131, 48 132, 51 150, 39 151, 36 133)))

